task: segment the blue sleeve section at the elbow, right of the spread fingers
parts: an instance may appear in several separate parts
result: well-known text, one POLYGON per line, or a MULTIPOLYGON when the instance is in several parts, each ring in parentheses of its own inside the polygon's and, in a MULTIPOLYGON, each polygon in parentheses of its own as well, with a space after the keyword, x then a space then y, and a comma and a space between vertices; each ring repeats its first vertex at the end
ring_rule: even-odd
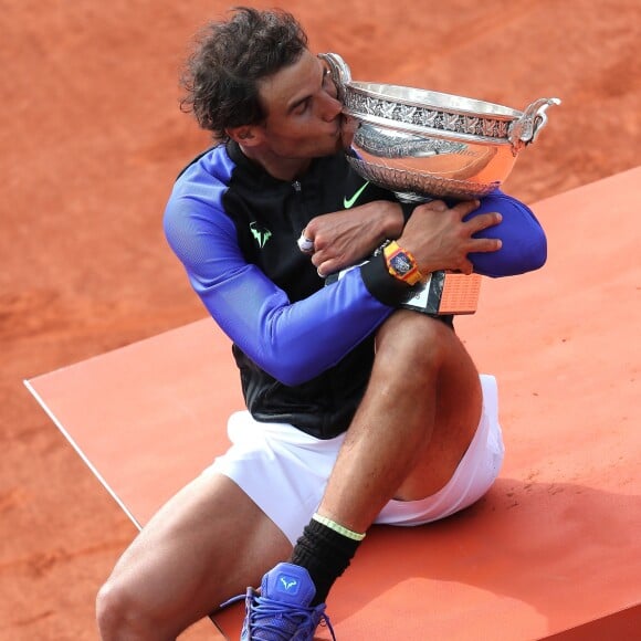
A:
POLYGON ((497 211, 503 220, 475 234, 475 238, 498 238, 503 241, 496 252, 473 253, 474 271, 485 276, 514 276, 538 270, 547 260, 547 240, 538 220, 523 202, 493 191, 481 200, 481 207, 467 218, 497 211))

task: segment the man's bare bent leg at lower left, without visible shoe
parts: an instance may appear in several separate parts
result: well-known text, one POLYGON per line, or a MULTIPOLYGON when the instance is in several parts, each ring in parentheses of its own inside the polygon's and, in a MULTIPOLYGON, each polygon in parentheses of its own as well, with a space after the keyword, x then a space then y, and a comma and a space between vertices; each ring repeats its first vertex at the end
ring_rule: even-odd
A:
POLYGON ((220 474, 200 476, 154 516, 102 588, 102 639, 176 639, 258 585, 291 549, 235 483, 220 474))

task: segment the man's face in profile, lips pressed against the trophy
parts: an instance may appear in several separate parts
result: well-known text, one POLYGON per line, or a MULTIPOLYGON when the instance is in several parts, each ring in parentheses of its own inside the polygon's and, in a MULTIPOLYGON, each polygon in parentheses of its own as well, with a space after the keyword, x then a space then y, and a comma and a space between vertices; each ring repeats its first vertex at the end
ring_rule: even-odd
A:
POLYGON ((343 147, 343 105, 325 63, 311 52, 262 81, 259 91, 267 112, 261 134, 272 155, 308 159, 343 147))

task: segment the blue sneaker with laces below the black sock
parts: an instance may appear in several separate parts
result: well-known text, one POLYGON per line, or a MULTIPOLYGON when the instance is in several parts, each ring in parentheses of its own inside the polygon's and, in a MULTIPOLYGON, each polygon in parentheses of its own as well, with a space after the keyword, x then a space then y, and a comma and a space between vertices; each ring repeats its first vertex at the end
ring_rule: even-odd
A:
POLYGON ((248 588, 241 641, 313 641, 323 622, 336 641, 325 603, 309 607, 316 588, 305 568, 279 564, 261 585, 261 592, 248 588))

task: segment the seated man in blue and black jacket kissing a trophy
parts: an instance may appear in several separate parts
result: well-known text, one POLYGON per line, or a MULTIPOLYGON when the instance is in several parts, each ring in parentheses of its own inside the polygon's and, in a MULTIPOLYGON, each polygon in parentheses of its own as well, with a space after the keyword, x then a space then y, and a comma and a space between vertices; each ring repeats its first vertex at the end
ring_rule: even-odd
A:
POLYGON ((491 275, 536 269, 545 237, 498 192, 403 212, 364 186, 341 151, 336 87, 287 13, 241 8, 209 25, 186 87, 221 144, 181 174, 165 230, 233 341, 249 411, 230 418, 229 452, 119 559, 98 624, 105 640, 175 639, 263 577, 242 639, 308 640, 372 523, 448 516, 501 466, 493 379, 451 318, 400 304, 432 271, 470 273, 471 259, 491 275), (393 252, 410 272, 395 272, 393 252))

